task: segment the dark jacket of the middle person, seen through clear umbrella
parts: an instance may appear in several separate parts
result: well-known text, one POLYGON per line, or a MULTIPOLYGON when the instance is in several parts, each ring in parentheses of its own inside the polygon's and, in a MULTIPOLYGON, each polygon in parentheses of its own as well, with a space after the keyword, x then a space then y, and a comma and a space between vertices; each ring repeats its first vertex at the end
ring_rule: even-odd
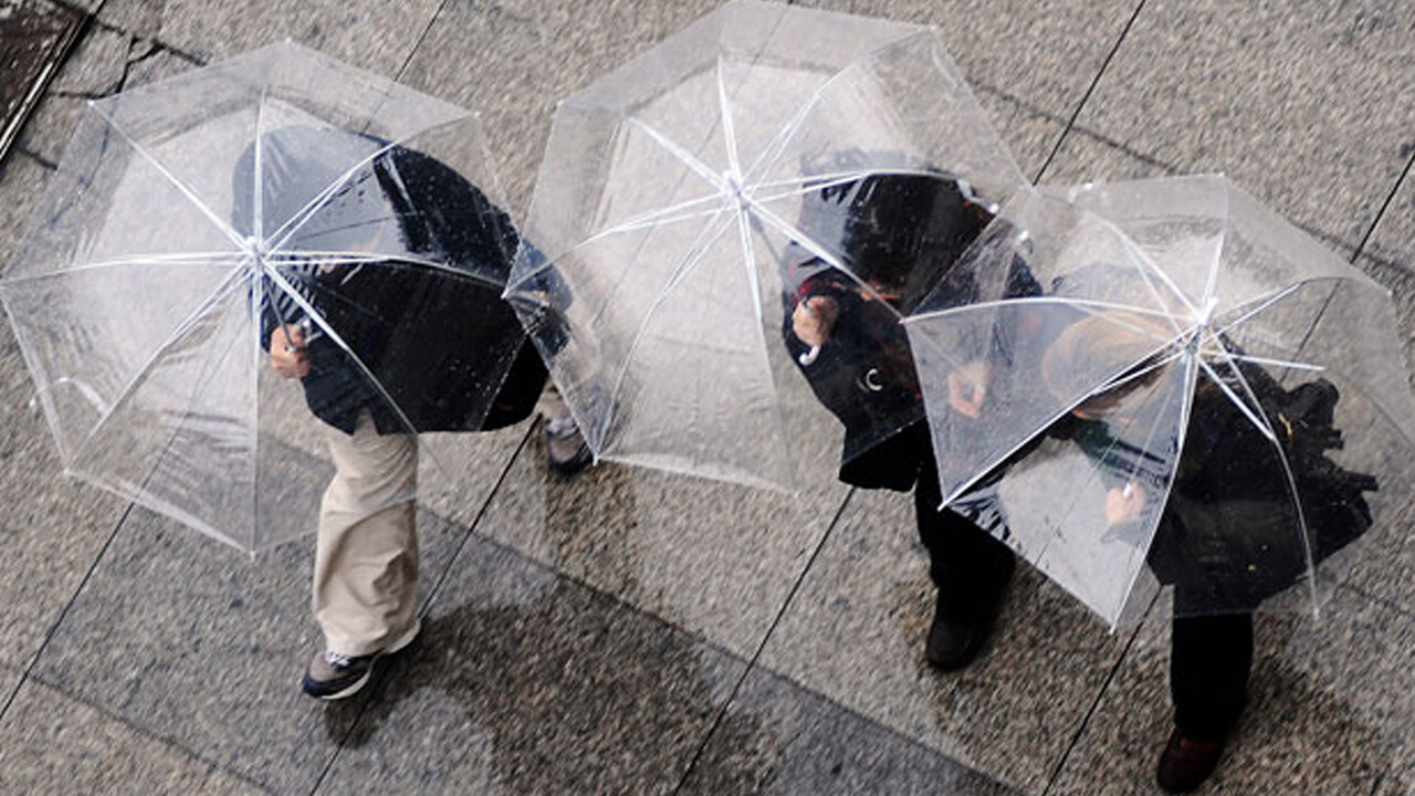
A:
MULTIPOLYGON (((782 337, 816 398, 845 426, 842 482, 907 491, 921 459, 932 455, 899 320, 940 285, 990 218, 947 174, 874 174, 807 195, 798 227, 855 278, 792 244, 782 262, 782 337), (833 297, 839 314, 815 361, 801 364, 809 346, 792 331, 792 313, 814 296, 833 297)), ((1017 265, 1009 295, 1040 292, 1017 265)))

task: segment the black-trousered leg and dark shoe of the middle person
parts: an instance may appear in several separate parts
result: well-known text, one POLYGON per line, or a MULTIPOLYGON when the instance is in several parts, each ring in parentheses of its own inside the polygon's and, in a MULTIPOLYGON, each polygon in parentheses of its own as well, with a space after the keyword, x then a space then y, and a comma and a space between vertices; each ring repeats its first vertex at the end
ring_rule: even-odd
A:
POLYGON ((988 640, 1016 568, 1016 555, 961 514, 940 510, 940 503, 942 493, 930 452, 920 465, 914 487, 918 538, 928 550, 928 574, 938 586, 925 657, 932 666, 951 671, 972 663, 988 640))

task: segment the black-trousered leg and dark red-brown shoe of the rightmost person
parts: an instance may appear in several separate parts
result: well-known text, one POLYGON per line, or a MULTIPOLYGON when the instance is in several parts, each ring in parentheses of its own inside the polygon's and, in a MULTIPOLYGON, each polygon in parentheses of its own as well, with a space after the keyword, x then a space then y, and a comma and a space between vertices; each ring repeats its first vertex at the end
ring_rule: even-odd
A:
POLYGON ((1248 701, 1252 615, 1176 618, 1170 635, 1174 731, 1156 779, 1166 792, 1184 793, 1213 773, 1248 701))

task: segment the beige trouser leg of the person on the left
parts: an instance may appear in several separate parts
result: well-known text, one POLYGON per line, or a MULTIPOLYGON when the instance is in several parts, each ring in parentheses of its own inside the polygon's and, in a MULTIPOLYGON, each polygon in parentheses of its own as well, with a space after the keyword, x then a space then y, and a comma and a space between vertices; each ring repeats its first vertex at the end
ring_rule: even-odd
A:
POLYGON ((314 618, 325 649, 362 656, 417 619, 417 438, 379 435, 368 412, 352 436, 328 425, 324 436, 335 473, 320 504, 314 618))

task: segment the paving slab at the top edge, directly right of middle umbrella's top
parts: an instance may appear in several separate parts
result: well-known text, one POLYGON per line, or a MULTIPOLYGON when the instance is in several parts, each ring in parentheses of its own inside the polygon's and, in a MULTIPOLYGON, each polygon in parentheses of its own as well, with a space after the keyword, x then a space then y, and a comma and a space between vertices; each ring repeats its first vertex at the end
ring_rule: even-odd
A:
MULTIPOLYGON (((807 6, 938 27, 976 86, 1006 91, 1070 119, 1136 0, 807 0, 807 6)), ((1032 174, 1033 171, 1027 171, 1032 174)))

